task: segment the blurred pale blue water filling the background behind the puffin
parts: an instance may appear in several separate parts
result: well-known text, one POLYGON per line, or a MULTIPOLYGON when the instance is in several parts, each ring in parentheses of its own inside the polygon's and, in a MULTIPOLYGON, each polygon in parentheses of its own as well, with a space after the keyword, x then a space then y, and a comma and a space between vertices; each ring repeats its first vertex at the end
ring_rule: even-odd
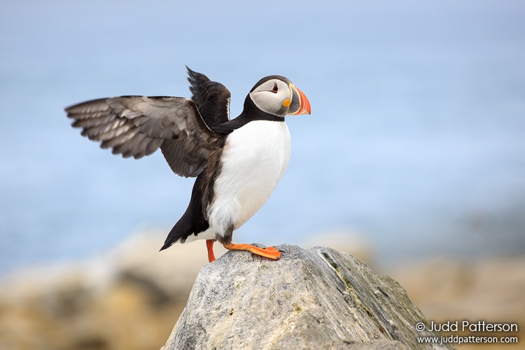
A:
POLYGON ((0 274, 179 219, 192 179, 160 152, 100 150, 63 109, 189 97, 185 64, 230 88, 233 116, 269 74, 311 102, 235 241, 346 230, 386 262, 525 251, 523 1, 2 1, 0 31, 0 274))

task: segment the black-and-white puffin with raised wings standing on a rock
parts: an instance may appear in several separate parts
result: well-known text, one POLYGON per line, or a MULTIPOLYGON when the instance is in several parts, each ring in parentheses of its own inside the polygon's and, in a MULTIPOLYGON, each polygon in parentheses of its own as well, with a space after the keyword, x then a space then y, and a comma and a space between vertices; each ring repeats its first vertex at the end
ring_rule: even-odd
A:
POLYGON ((205 239, 209 262, 216 259, 215 241, 278 260, 276 248, 233 244, 232 235, 262 207, 288 167, 285 116, 310 114, 310 103, 288 78, 266 76, 248 92, 241 114, 230 119, 230 90, 186 69, 191 99, 94 99, 67 107, 67 117, 81 135, 113 154, 138 159, 160 148, 175 174, 196 178, 188 209, 160 251, 178 241, 205 239))

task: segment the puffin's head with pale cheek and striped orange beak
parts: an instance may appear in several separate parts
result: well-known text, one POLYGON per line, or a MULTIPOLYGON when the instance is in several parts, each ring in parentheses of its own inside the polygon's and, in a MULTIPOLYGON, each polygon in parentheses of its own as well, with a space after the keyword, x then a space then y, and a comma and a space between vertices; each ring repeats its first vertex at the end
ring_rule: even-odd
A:
POLYGON ((310 114, 307 97, 283 76, 262 78, 251 89, 249 97, 258 109, 274 116, 310 114))

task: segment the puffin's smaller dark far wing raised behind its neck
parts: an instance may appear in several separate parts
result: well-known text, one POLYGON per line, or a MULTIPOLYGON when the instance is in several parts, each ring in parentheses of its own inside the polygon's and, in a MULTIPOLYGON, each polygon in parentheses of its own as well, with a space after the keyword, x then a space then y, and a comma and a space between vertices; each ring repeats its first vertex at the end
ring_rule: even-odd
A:
POLYGON ((230 120, 230 90, 221 83, 211 81, 202 73, 188 69, 192 99, 209 127, 230 120))

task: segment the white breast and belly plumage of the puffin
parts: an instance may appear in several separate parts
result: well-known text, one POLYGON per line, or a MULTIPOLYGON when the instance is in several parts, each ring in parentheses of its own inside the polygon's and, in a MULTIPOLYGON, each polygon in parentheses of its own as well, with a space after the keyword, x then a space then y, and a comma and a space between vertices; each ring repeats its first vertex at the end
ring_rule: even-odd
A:
POLYGON ((256 120, 228 135, 207 233, 223 235, 232 223, 237 229, 251 218, 286 172, 290 151, 290 132, 283 122, 256 120))

